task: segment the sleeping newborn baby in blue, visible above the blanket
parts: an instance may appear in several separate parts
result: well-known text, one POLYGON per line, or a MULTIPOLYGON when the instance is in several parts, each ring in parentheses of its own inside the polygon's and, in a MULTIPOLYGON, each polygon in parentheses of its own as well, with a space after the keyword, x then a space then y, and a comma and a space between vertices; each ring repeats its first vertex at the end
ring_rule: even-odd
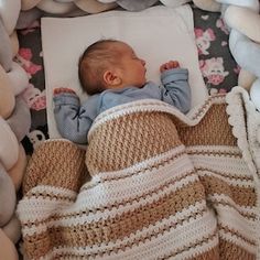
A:
POLYGON ((159 99, 182 112, 191 108, 187 69, 170 61, 160 67, 162 86, 145 78, 145 62, 124 42, 101 40, 86 48, 78 63, 85 104, 69 88, 54 89, 54 116, 59 133, 76 143, 87 143, 95 118, 115 106, 138 99, 159 99))

